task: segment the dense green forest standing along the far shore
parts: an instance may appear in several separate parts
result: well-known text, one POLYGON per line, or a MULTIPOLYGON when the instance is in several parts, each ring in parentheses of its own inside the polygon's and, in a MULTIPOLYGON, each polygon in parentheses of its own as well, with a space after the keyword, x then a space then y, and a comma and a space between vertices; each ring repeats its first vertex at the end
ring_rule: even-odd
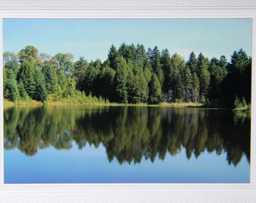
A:
POLYGON ((17 102, 77 99, 84 103, 159 104, 203 102, 226 108, 251 103, 251 57, 234 51, 209 60, 192 51, 187 62, 178 53, 142 44, 113 44, 108 59, 74 62, 72 53, 50 56, 27 46, 3 54, 4 98, 17 102))

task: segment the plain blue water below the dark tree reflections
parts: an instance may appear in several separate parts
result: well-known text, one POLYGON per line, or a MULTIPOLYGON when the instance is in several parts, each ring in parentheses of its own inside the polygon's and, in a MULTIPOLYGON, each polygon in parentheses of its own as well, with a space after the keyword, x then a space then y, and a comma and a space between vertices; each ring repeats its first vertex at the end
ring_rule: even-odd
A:
MULTIPOLYGON (((75 143, 72 143, 75 145, 75 143)), ((5 183, 249 183, 250 165, 245 157, 236 167, 228 165, 226 154, 202 153, 190 160, 181 150, 163 160, 142 159, 140 164, 109 163, 105 148, 83 150, 38 150, 26 156, 19 150, 5 150, 5 183)))

